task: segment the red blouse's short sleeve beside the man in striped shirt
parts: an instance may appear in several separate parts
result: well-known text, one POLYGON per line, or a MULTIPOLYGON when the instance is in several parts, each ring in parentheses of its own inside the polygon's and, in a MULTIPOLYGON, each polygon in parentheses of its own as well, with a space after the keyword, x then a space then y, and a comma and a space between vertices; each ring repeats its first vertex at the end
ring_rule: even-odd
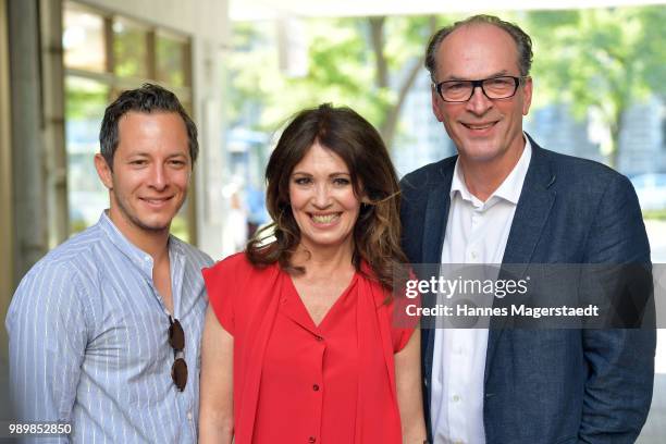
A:
POLYGON ((220 324, 231 335, 234 334, 234 295, 237 293, 235 291, 237 283, 237 276, 235 276, 237 267, 235 264, 237 260, 233 260, 233 258, 224 259, 211 268, 201 270, 210 306, 220 324))

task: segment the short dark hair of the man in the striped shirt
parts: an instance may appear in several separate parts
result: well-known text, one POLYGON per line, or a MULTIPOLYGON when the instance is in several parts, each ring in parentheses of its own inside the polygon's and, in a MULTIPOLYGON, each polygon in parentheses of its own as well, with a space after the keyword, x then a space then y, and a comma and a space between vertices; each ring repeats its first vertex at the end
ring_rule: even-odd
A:
POLYGON ((123 92, 107 107, 104 119, 102 120, 99 132, 100 152, 107 164, 113 170, 113 155, 120 141, 119 123, 123 115, 130 111, 151 113, 151 112, 176 112, 183 119, 187 130, 189 147, 189 158, 194 166, 199 153, 199 143, 197 141, 197 126, 187 115, 187 111, 181 104, 175 94, 159 85, 144 84, 140 88, 128 89, 123 92))

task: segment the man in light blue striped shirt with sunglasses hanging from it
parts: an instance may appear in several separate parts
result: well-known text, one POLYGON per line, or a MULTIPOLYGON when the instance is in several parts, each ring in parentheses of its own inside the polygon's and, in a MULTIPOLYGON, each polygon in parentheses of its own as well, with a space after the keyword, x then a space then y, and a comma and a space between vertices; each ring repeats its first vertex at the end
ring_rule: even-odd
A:
POLYGON ((38 442, 195 443, 212 261, 170 235, 198 153, 175 95, 146 84, 106 112, 99 222, 41 259, 10 306, 11 394, 38 442))

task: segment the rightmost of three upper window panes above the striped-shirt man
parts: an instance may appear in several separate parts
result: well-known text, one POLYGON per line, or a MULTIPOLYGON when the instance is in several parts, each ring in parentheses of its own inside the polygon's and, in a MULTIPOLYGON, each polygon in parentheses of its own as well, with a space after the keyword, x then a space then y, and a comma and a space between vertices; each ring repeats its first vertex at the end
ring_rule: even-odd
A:
POLYGON ((188 86, 189 63, 187 39, 158 34, 156 38, 158 81, 171 86, 188 86))

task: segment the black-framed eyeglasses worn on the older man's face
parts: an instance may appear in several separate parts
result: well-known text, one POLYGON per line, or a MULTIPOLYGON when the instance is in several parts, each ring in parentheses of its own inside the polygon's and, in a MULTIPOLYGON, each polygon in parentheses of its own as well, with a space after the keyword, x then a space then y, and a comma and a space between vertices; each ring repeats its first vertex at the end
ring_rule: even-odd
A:
POLYGON ((508 99, 516 95, 518 86, 526 78, 529 77, 502 75, 480 81, 446 81, 436 84, 435 89, 442 100, 453 103, 461 103, 471 99, 477 87, 480 87, 489 99, 508 99))

